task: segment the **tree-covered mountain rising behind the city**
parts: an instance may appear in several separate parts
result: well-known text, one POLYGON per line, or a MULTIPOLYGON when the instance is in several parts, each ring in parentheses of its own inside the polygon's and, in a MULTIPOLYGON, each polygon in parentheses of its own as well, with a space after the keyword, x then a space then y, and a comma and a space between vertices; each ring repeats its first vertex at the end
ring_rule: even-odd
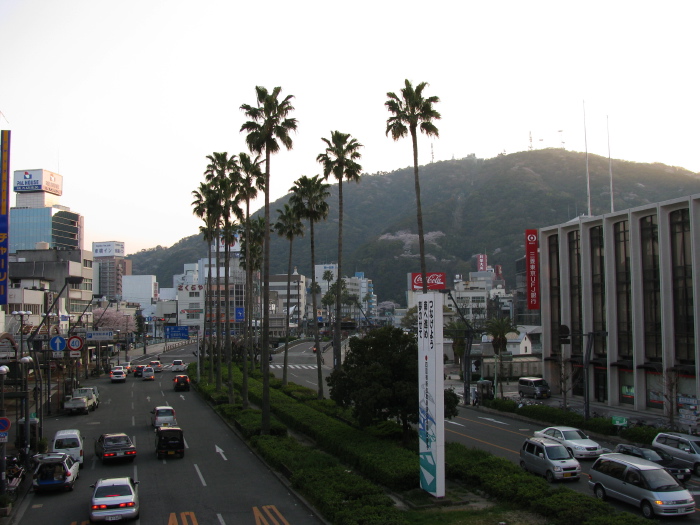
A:
MULTIPOLYGON (((588 164, 592 215, 609 213, 608 159, 589 154, 588 164)), ((700 193, 699 174, 683 168, 613 160, 612 172, 618 211, 700 193)), ((515 261, 524 256, 525 229, 587 214, 586 159, 580 152, 544 149, 492 159, 470 156, 421 166, 420 177, 428 271, 448 276, 466 276, 476 269, 475 255, 485 253, 490 265, 502 265, 512 286, 515 261)), ((330 190, 328 219, 314 226, 317 264, 337 259, 337 183, 330 190)), ((420 271, 413 168, 363 175, 358 184, 344 182, 343 197, 343 273, 364 272, 374 281, 379 301, 405 304, 406 274, 420 271)), ((273 221, 288 199, 271 204, 273 221)), ((309 244, 308 236, 294 241, 293 264, 307 276, 309 244)), ((273 234, 273 273, 287 271, 288 250, 288 242, 273 234)), ((183 264, 206 255, 201 235, 192 235, 170 248, 158 246, 128 258, 134 274, 154 274, 162 287, 170 287, 183 264)))

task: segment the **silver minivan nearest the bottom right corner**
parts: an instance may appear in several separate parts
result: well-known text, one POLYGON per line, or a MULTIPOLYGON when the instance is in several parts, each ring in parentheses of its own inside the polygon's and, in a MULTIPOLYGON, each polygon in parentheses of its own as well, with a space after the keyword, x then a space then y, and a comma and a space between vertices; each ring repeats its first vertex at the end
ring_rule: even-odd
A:
POLYGON ((642 509, 645 518, 695 512, 695 500, 666 469, 626 454, 603 454, 588 473, 598 499, 611 497, 642 509))

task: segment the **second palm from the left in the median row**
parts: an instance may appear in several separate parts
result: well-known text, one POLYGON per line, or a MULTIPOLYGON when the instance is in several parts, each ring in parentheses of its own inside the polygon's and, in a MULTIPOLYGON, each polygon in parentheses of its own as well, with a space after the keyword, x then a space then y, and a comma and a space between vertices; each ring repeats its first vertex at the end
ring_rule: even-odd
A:
MULTIPOLYGON (((221 343, 223 340, 221 326, 221 241, 223 240, 222 231, 228 229, 228 224, 230 223, 231 174, 237 171, 238 165, 236 156, 232 155, 229 157, 226 152, 215 152, 207 155, 207 160, 209 164, 207 164, 207 169, 204 171, 204 176, 218 195, 219 206, 217 208, 220 211, 216 235, 216 391, 218 392, 221 390, 222 385, 221 343)), ((224 250, 228 252, 228 247, 224 246, 224 250)), ((228 275, 228 272, 226 273, 228 275)), ((225 279, 224 285, 227 285, 225 279)), ((228 290, 225 296, 228 299, 228 290)))

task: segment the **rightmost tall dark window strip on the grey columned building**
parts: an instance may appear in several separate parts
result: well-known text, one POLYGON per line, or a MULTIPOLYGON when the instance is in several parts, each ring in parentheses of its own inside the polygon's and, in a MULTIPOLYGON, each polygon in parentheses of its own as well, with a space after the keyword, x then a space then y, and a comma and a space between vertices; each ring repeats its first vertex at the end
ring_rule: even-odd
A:
POLYGON ((673 337, 676 358, 683 364, 694 364, 693 266, 692 254, 690 253, 690 215, 688 209, 672 212, 670 223, 673 337))

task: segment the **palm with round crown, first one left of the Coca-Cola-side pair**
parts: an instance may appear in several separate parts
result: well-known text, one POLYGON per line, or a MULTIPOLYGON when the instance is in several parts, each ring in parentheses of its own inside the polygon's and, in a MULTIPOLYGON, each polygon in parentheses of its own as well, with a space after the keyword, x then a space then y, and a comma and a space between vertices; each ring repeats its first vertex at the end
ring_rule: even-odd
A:
MULTIPOLYGON (((326 199, 330 195, 328 184, 316 175, 309 178, 302 175, 294 186, 290 189, 292 196, 289 199, 297 214, 302 219, 309 221, 309 232, 311 237, 311 290, 316 290, 316 255, 314 246, 314 224, 328 216, 328 203, 326 199)), ((318 333, 318 320, 316 319, 316 294, 311 294, 313 308, 314 338, 316 341, 316 365, 318 367, 318 398, 323 399, 323 371, 321 365, 321 339, 318 333)))

